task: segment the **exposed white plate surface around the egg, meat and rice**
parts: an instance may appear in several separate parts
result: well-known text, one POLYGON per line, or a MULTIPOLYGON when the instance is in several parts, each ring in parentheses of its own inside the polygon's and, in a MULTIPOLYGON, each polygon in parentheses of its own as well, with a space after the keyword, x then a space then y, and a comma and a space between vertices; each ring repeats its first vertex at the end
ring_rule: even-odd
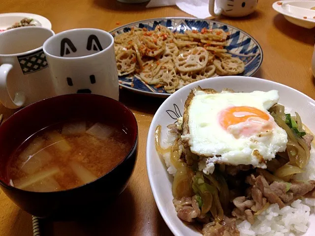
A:
MULTIPOLYGON (((200 80, 179 89, 169 96, 159 107, 149 128, 146 161, 147 171, 151 189, 167 226, 175 236, 201 236, 194 228, 185 225, 176 215, 172 200, 172 181, 173 178, 167 173, 164 161, 158 156, 155 148, 155 129, 161 125, 161 139, 165 138, 167 125, 174 123, 176 118, 181 117, 184 112, 184 104, 190 89, 197 86, 201 88, 212 88, 218 91, 229 88, 235 91, 251 92, 254 90, 269 91, 277 89, 279 91, 279 103, 283 104, 288 110, 298 112, 303 119, 303 123, 315 131, 315 101, 302 92, 288 86, 253 77, 226 76, 200 80)), ((315 214, 310 215, 309 229, 304 236, 314 236, 315 214)))

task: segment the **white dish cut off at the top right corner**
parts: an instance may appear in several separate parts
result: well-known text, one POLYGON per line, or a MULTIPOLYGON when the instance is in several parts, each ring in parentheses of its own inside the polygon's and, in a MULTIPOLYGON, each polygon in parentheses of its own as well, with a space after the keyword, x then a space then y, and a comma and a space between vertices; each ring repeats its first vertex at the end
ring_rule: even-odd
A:
POLYGON ((294 25, 307 29, 315 27, 314 0, 284 0, 272 4, 274 10, 284 15, 284 18, 294 25))

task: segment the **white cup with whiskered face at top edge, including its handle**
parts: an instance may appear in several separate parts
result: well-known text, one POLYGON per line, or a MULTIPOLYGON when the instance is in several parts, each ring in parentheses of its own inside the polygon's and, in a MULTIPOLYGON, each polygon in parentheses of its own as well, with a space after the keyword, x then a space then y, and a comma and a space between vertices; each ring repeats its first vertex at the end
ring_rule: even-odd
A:
POLYGON ((257 3, 258 0, 209 0, 209 12, 212 16, 247 16, 254 12, 257 3))

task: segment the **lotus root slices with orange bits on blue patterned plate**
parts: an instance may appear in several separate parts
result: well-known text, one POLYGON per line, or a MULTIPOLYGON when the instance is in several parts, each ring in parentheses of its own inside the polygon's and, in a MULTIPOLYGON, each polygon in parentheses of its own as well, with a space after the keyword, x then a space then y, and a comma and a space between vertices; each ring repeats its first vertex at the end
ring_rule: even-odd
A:
POLYGON ((114 35, 118 75, 135 75, 149 85, 173 93, 189 83, 216 75, 244 72, 244 62, 224 48, 228 32, 222 29, 173 33, 132 28, 114 35))

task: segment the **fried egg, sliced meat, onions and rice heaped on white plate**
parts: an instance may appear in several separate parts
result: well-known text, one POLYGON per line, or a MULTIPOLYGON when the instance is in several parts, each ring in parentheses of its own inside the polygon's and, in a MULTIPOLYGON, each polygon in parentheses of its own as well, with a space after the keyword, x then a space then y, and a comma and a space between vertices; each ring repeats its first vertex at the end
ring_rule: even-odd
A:
POLYGON ((156 149, 177 216, 205 236, 294 236, 315 206, 313 134, 277 90, 192 89, 156 149), (314 180, 313 180, 314 179, 314 180))

